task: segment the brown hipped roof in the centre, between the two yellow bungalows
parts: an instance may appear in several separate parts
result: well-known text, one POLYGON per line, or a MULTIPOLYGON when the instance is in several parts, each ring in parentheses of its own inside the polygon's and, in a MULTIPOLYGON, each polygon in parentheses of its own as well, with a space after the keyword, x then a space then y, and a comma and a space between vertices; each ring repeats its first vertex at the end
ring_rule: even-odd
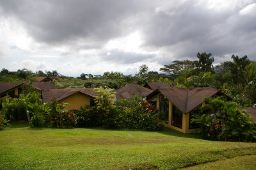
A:
POLYGON ((136 95, 137 97, 147 96, 148 94, 152 93, 151 89, 144 88, 138 84, 130 83, 127 86, 124 86, 120 89, 115 89, 116 92, 116 99, 122 98, 129 98, 132 95, 136 95))

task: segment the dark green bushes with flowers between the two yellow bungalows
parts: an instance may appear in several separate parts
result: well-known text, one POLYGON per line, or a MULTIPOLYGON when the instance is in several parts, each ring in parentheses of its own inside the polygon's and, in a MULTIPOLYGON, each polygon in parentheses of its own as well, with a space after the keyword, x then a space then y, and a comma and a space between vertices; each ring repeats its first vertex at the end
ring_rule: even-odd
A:
MULTIPOLYGON (((104 105, 104 104, 102 104, 104 105)), ((102 109, 81 107, 74 111, 77 127, 136 128, 143 130, 161 130, 163 122, 159 120, 158 108, 153 107, 140 97, 117 100, 115 107, 102 114, 102 109)))

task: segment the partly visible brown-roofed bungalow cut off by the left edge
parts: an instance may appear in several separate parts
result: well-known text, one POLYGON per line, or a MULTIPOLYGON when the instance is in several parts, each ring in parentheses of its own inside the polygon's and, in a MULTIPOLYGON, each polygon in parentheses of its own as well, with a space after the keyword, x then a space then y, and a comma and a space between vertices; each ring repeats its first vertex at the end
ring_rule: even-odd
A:
POLYGON ((19 97, 23 82, 0 82, 0 97, 8 95, 10 97, 19 97))

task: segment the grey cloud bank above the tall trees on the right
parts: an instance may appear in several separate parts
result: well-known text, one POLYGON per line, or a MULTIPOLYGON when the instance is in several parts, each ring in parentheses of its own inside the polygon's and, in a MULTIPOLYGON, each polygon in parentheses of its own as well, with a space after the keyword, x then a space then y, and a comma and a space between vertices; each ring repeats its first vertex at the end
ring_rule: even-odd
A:
MULTIPOLYGON (((240 16, 242 9, 214 11, 186 1, 179 8, 157 10, 145 24, 145 45, 164 47, 174 54, 169 56, 173 60, 196 59, 197 52, 211 52, 216 61, 230 53, 256 59, 256 16, 240 16)), ((164 56, 159 63, 169 58, 164 56)))

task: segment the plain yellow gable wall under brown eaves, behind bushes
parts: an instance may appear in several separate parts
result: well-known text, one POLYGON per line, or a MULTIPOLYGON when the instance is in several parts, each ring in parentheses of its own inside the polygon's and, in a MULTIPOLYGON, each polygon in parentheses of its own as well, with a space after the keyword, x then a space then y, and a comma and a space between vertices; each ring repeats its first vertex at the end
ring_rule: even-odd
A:
POLYGON ((90 98, 87 95, 83 95, 81 93, 75 93, 74 95, 71 95, 70 97, 64 98, 63 100, 60 100, 58 103, 63 104, 63 103, 68 103, 65 107, 67 110, 71 109, 80 109, 80 107, 84 105, 90 105, 90 98))

